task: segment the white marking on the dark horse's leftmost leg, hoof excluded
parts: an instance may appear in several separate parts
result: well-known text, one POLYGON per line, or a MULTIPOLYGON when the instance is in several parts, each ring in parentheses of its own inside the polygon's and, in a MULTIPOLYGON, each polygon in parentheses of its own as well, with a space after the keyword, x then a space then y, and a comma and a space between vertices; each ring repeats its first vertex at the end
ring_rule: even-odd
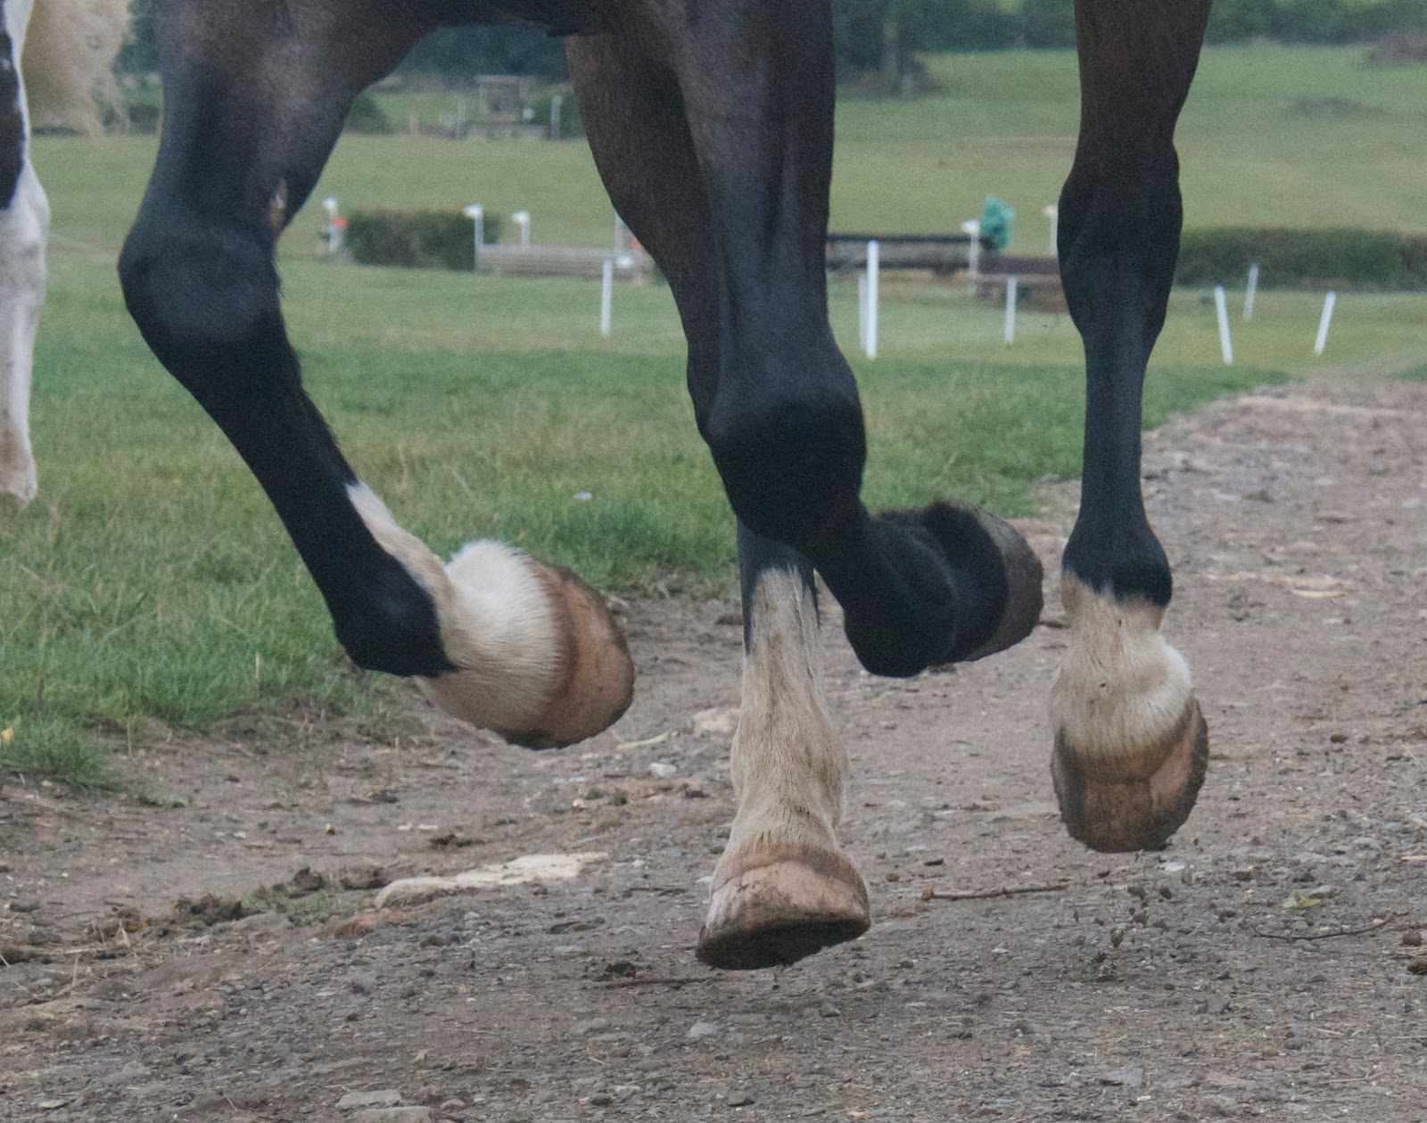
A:
POLYGON ((484 539, 444 566, 365 484, 347 494, 378 545, 431 594, 441 642, 457 671, 424 679, 432 701, 484 729, 524 729, 559 682, 559 629, 529 558, 484 539))

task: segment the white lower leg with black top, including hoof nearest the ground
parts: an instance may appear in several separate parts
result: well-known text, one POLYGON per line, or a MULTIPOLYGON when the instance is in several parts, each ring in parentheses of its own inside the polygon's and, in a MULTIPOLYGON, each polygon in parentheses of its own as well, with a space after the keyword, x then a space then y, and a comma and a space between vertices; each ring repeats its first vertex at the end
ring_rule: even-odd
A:
POLYGON ((793 963, 868 930, 868 889, 836 839, 848 752, 823 712, 812 571, 739 531, 743 701, 733 735, 738 812, 714 872, 698 957, 793 963))

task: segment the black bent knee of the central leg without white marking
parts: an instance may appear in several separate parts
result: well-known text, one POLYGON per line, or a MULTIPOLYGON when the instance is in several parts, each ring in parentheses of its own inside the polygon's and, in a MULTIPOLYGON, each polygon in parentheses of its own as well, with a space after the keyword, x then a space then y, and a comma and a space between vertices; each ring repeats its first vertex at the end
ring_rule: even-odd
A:
POLYGON ((866 437, 856 388, 721 397, 701 430, 743 524, 793 545, 856 509, 866 437))

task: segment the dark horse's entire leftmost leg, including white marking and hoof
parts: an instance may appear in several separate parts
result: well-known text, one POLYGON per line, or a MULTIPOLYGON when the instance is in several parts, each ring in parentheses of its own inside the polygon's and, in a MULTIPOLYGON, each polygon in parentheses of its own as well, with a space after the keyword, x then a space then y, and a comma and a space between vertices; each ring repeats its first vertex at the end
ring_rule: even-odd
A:
POLYGON ((160 361, 253 469, 365 668, 431 679, 435 701, 532 746, 591 736, 632 668, 602 601, 494 542, 450 566, 361 484, 307 398, 274 245, 317 183, 352 97, 428 29, 280 6, 160 9, 158 161, 120 260, 160 361))

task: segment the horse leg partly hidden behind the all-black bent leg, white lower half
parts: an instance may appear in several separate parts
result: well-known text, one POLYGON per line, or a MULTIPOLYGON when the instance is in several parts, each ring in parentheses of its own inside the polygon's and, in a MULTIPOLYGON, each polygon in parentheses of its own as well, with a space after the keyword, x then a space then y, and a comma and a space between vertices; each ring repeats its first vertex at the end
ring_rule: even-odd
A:
MULTIPOLYGON (((672 70, 616 36, 569 40, 569 64, 605 186, 669 278, 689 341, 689 384, 706 385, 719 362, 722 270, 672 70)), ((812 572, 796 551, 743 525, 739 566, 738 809, 698 956, 762 967, 865 932, 868 892, 835 835, 848 756, 823 713, 812 572)))

